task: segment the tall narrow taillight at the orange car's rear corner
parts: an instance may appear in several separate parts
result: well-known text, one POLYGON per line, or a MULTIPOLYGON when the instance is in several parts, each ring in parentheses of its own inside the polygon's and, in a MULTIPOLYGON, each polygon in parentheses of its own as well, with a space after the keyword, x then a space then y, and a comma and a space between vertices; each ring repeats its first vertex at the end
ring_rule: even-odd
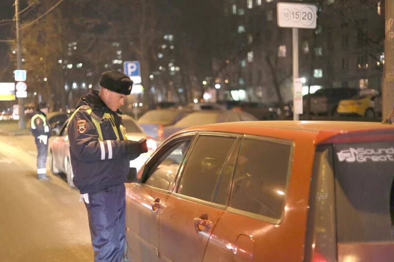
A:
POLYGON ((309 192, 305 262, 336 261, 334 194, 332 146, 319 146, 309 192))

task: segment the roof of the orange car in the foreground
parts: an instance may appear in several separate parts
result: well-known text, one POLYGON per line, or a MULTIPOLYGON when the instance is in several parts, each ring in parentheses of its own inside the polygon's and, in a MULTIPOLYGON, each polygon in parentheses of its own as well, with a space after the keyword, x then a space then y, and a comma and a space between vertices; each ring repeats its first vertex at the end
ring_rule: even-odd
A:
POLYGON ((179 133, 210 131, 285 140, 307 139, 313 144, 394 141, 394 125, 350 121, 251 121, 218 123, 184 129, 179 133), (368 137, 368 138, 367 138, 368 137))

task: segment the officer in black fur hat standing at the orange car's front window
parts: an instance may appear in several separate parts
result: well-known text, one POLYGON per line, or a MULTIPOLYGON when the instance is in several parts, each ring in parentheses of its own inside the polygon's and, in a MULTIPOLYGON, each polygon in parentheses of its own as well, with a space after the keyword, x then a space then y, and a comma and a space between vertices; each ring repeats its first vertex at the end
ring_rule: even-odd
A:
POLYGON ((146 140, 127 140, 119 108, 133 82, 104 72, 100 90, 80 99, 68 123, 74 185, 88 211, 95 261, 122 260, 125 245, 125 186, 130 160, 148 151, 146 140))

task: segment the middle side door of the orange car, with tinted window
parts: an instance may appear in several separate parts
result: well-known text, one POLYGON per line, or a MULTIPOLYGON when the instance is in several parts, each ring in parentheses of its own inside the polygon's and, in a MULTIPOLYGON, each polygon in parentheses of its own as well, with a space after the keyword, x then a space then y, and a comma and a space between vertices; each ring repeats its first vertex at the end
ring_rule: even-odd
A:
POLYGON ((191 146, 160 217, 159 256, 163 261, 202 261, 228 201, 225 194, 216 192, 230 191, 228 162, 238 143, 237 135, 201 133, 191 146))

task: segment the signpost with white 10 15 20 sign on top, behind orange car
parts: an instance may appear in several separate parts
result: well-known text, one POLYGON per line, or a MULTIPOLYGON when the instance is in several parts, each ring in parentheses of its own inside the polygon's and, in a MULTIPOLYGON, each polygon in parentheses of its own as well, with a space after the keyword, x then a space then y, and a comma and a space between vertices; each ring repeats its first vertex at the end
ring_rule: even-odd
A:
POLYGON ((298 120, 302 114, 302 82, 298 78, 298 28, 316 28, 317 10, 314 4, 301 3, 278 2, 276 7, 278 26, 293 29, 293 119, 298 120))

